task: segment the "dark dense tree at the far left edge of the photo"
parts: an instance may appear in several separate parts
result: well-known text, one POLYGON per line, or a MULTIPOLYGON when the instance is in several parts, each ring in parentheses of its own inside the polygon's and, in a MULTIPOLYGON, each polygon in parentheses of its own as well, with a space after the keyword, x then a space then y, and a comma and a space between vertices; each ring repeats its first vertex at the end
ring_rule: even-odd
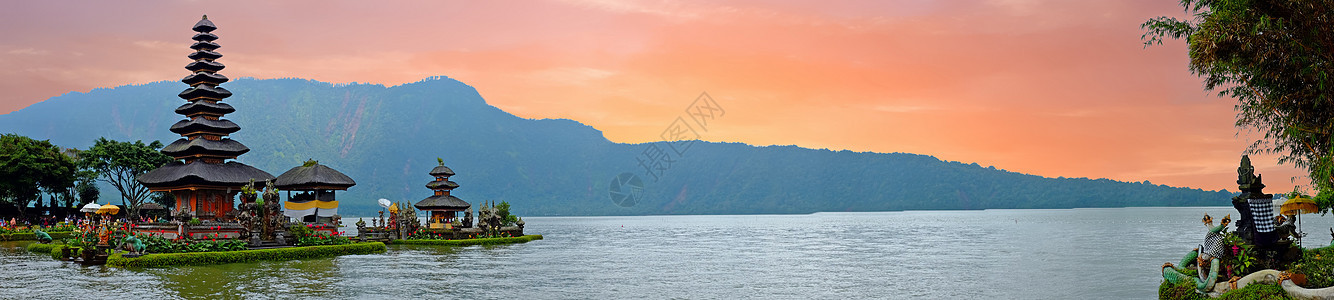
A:
POLYGON ((27 207, 39 200, 41 191, 73 187, 73 159, 47 140, 19 135, 0 135, 0 199, 27 216, 27 207))

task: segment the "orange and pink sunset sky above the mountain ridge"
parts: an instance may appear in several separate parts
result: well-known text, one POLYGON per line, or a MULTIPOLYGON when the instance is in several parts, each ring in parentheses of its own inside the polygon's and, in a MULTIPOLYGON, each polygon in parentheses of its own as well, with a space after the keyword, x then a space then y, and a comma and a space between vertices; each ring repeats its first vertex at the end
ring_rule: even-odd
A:
MULTIPOLYGON (((619 143, 656 140, 708 92, 726 109, 710 141, 1235 191, 1259 136, 1201 88, 1183 43, 1143 47, 1146 19, 1186 16, 1175 0, 11 1, 0 113, 179 80, 205 13, 233 79, 448 76, 619 143)), ((1298 169, 1253 159, 1266 191, 1291 191, 1298 169)))

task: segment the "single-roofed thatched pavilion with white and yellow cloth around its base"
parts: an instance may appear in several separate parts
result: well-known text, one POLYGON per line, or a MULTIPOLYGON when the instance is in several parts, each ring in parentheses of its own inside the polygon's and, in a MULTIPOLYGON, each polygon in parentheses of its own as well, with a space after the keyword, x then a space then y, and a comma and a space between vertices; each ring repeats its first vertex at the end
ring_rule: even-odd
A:
POLYGON ((352 185, 356 185, 352 177, 315 160, 288 169, 273 180, 273 187, 287 191, 283 213, 307 223, 324 221, 338 215, 334 191, 347 191, 352 185), (292 191, 297 193, 292 195, 292 191))

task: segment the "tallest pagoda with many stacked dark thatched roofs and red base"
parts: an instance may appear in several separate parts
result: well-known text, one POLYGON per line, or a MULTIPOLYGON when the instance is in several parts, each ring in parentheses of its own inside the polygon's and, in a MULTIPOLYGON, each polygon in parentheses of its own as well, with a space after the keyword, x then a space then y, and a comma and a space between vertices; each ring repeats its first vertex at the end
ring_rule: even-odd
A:
POLYGON ((191 73, 180 80, 189 88, 177 95, 185 104, 176 108, 176 113, 184 115, 185 120, 171 125, 171 132, 181 139, 161 149, 164 155, 176 157, 176 161, 148 171, 137 180, 149 191, 176 196, 173 209, 177 213, 216 220, 232 211, 232 200, 241 185, 251 180, 272 180, 273 176, 235 161, 237 156, 249 152, 249 148, 227 137, 241 128, 223 119, 223 115, 236 109, 221 103, 232 92, 217 87, 227 83, 227 76, 217 73, 224 68, 217 63, 223 55, 215 52, 220 48, 213 43, 217 35, 212 33, 217 27, 204 16, 195 23, 193 29, 195 44, 189 48, 195 52, 188 56, 193 61, 185 65, 191 73))

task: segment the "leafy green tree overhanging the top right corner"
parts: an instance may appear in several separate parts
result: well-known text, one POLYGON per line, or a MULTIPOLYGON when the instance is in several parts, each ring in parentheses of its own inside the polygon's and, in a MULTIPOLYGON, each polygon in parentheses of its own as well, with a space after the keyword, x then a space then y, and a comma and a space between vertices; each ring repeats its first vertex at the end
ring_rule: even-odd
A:
POLYGON ((1334 1, 1182 0, 1193 17, 1154 17, 1145 45, 1185 39, 1205 89, 1237 99, 1237 127, 1265 136, 1249 153, 1275 153, 1334 192, 1334 1))

